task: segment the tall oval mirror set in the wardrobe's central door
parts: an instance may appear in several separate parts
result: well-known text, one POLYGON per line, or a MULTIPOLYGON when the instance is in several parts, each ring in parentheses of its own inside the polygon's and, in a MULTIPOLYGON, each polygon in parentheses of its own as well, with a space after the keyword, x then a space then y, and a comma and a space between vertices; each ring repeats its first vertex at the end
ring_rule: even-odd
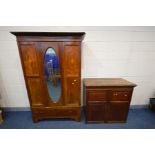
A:
POLYGON ((56 103, 61 96, 61 75, 59 58, 53 48, 48 48, 45 52, 44 64, 48 93, 52 101, 56 103))

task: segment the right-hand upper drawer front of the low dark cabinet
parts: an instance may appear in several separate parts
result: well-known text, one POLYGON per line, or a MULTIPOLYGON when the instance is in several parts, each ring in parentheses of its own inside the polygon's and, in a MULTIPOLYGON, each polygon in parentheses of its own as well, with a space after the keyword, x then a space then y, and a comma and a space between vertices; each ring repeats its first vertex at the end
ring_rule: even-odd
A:
POLYGON ((111 101, 130 101, 131 90, 112 90, 110 92, 111 101))

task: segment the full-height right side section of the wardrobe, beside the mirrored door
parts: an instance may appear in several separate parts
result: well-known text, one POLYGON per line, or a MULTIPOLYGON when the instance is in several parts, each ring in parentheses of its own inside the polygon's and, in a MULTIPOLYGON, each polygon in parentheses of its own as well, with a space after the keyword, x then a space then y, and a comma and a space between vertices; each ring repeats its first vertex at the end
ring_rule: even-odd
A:
POLYGON ((66 104, 79 106, 81 86, 80 42, 64 42, 63 45, 66 104))

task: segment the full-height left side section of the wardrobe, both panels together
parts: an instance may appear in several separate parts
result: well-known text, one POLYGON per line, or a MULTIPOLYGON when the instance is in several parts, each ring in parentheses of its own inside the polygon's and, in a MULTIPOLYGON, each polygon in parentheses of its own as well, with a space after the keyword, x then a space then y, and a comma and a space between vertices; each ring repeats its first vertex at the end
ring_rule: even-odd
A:
POLYGON ((18 45, 30 103, 33 107, 43 106, 42 83, 36 45, 33 42, 18 43, 18 45))

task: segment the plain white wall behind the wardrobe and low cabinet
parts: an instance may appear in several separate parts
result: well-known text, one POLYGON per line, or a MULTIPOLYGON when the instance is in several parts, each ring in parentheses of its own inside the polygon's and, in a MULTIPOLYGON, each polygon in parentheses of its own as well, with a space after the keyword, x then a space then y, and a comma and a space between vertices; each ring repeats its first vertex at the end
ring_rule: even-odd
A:
POLYGON ((155 27, 0 27, 0 104, 29 107, 15 36, 10 31, 83 31, 82 78, 121 77, 138 86, 132 105, 155 97, 155 27))

